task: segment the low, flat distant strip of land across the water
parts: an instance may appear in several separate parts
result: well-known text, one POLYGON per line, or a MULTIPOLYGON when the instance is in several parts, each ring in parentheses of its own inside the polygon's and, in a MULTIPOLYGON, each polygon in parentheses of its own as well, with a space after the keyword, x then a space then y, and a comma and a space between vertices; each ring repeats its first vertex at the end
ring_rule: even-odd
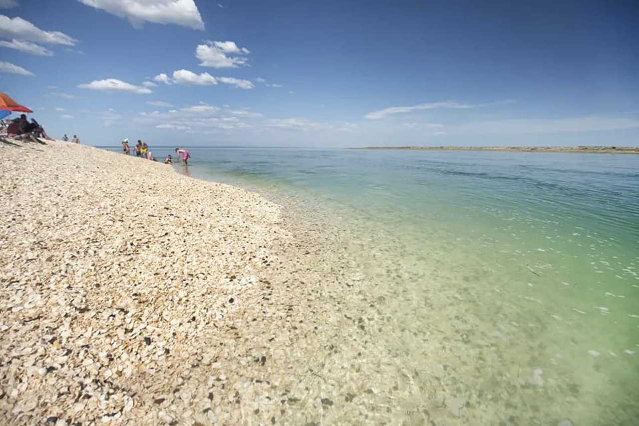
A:
POLYGON ((639 154, 639 146, 358 146, 347 150, 578 152, 585 154, 639 154))

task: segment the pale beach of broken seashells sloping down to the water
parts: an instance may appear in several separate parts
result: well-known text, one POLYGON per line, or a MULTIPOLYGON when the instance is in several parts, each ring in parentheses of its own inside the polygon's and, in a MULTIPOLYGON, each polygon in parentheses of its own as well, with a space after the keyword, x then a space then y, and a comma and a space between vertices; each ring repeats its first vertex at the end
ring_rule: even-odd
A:
POLYGON ((92 146, 0 152, 12 157, 0 166, 4 422, 397 416, 376 412, 386 391, 364 392, 392 363, 370 350, 373 320, 344 319, 370 301, 357 274, 323 257, 318 226, 288 223, 259 194, 92 146), (342 377, 353 359, 367 367, 342 377))

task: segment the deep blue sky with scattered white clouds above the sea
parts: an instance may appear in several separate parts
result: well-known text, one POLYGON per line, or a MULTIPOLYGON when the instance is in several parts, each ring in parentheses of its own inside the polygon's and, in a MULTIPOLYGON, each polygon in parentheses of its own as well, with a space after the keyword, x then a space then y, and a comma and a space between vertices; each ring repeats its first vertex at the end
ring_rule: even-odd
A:
POLYGON ((0 91, 90 145, 639 145, 639 2, 526 3, 0 0, 0 91))

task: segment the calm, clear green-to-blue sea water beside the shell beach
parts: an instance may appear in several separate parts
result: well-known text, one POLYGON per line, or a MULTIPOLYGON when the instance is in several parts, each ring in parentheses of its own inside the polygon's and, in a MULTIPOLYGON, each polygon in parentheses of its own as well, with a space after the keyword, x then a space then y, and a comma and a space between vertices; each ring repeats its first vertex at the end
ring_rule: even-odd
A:
POLYGON ((495 419, 639 421, 639 155, 191 153, 192 177, 339 217, 395 296, 389 345, 415 370, 452 366, 495 419))

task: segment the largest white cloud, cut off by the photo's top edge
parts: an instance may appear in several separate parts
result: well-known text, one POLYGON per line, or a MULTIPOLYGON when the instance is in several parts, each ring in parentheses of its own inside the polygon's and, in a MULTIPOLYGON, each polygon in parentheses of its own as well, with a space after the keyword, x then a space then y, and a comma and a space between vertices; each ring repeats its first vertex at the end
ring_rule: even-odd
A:
POLYGON ((204 22, 194 0, 79 0, 96 9, 126 18, 134 28, 144 22, 176 24, 204 29, 204 22))

